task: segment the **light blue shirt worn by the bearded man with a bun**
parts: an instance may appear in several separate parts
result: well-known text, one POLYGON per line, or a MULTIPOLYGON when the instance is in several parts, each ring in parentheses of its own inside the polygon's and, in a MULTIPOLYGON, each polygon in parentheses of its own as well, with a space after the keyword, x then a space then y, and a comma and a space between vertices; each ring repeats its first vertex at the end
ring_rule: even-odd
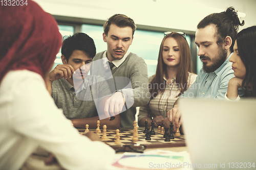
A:
POLYGON ((226 61, 214 72, 206 73, 200 70, 196 81, 180 96, 180 98, 224 99, 228 82, 234 77, 232 63, 226 61))

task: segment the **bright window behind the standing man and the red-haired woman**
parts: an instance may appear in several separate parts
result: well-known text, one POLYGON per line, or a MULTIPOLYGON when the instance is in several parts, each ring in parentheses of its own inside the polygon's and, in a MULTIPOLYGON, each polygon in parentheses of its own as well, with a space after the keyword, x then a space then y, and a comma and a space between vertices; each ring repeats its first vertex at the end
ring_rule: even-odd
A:
MULTIPOLYGON (((106 50, 107 46, 102 37, 102 26, 83 24, 82 32, 93 38, 97 53, 106 50)), ((145 60, 147 64, 148 77, 156 74, 159 48, 163 36, 163 32, 154 31, 136 30, 134 33, 133 43, 129 47, 129 51, 137 54, 139 57, 142 57, 145 60)), ((190 46, 190 37, 186 36, 186 39, 190 46)))

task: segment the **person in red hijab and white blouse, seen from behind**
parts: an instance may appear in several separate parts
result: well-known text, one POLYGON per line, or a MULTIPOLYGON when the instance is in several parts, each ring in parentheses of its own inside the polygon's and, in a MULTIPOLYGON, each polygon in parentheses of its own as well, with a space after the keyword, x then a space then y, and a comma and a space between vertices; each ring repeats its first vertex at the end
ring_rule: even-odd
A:
POLYGON ((65 169, 103 169, 115 151, 80 135, 46 89, 61 45, 54 18, 28 0, 0 6, 0 21, 0 169, 19 169, 37 147, 65 169))

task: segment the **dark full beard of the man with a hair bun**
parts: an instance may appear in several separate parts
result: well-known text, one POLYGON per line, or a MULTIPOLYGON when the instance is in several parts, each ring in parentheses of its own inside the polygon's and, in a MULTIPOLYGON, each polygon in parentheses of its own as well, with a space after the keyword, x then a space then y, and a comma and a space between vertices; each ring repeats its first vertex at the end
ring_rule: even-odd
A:
POLYGON ((210 59, 208 56, 200 56, 200 59, 207 59, 208 61, 212 62, 211 65, 207 65, 208 62, 203 63, 203 70, 206 73, 214 72, 226 61, 226 58, 227 51, 225 50, 225 48, 219 48, 217 56, 212 59, 210 59))

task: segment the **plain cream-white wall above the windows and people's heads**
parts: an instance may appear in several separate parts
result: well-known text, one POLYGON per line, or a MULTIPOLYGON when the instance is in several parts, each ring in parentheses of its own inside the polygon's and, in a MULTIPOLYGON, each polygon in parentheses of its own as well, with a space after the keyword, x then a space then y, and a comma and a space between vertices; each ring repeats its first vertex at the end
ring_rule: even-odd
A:
POLYGON ((256 0, 34 0, 45 11, 60 16, 105 20, 115 13, 139 25, 196 31, 206 15, 233 6, 245 13, 245 26, 256 25, 256 0))

